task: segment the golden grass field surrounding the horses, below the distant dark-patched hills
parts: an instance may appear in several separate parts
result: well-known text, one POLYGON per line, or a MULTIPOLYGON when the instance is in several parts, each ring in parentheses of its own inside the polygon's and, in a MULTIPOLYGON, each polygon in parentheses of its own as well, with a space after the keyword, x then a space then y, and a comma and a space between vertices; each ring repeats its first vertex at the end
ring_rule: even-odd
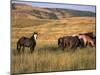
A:
MULTIPOLYGON (((17 21, 17 20, 16 20, 17 21)), ((28 21, 28 20, 27 20, 28 21)), ((19 26, 12 28, 12 73, 65 71, 96 68, 95 48, 78 48, 75 52, 65 51, 58 48, 57 39, 60 36, 78 34, 82 32, 95 32, 95 19, 87 17, 74 17, 68 20, 44 20, 31 24, 22 20, 19 26), (25 24, 24 24, 25 22, 25 24), (30 37, 38 32, 38 39, 35 51, 18 55, 16 42, 21 36, 30 37)), ((19 21, 18 21, 19 22, 19 21)), ((16 23, 18 23, 16 22, 16 23)))

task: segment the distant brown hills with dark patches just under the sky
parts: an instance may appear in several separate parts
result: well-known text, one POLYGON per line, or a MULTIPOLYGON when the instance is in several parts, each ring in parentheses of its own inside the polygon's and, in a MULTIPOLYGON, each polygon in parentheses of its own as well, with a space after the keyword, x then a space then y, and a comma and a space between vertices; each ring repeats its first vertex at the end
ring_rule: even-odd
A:
POLYGON ((18 4, 14 5, 12 13, 17 17, 28 17, 34 19, 62 19, 69 17, 94 17, 96 14, 90 11, 79 11, 72 9, 59 9, 59 8, 40 8, 32 7, 31 5, 18 4), (23 13, 23 14, 22 14, 23 13), (21 15, 20 15, 21 14, 21 15), (19 16, 18 16, 19 15, 19 16))

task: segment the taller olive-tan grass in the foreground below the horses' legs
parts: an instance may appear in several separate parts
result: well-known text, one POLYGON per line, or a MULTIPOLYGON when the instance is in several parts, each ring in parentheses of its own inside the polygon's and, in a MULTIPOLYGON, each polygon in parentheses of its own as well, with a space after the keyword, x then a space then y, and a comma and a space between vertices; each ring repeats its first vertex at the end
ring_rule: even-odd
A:
POLYGON ((64 70, 95 69, 95 48, 78 48, 75 52, 62 51, 56 45, 36 47, 21 55, 12 55, 12 73, 48 72, 64 70))

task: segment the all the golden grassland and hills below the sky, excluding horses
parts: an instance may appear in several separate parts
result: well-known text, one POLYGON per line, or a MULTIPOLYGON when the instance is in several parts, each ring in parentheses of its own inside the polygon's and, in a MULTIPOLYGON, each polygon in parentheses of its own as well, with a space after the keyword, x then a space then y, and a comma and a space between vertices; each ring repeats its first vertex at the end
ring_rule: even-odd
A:
POLYGON ((83 32, 95 34, 96 21, 95 16, 89 15, 91 12, 68 10, 16 5, 16 9, 12 10, 12 73, 96 68, 95 47, 78 48, 75 52, 63 52, 58 48, 57 39, 61 36, 83 32), (49 13, 57 18, 50 18, 49 13), (33 54, 29 53, 29 48, 25 48, 24 54, 17 54, 18 39, 22 36, 30 37, 34 31, 39 35, 33 54))

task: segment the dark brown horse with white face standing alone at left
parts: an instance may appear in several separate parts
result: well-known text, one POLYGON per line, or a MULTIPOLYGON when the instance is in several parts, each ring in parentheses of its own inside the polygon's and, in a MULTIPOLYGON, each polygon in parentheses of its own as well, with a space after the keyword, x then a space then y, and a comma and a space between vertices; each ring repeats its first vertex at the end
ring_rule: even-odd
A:
POLYGON ((37 39, 37 33, 34 32, 33 35, 30 38, 27 37, 21 37, 18 41, 17 41, 17 51, 18 53, 20 53, 21 51, 21 47, 23 48, 22 51, 24 52, 24 48, 25 47, 29 47, 30 48, 30 52, 32 53, 34 51, 34 48, 36 46, 36 39, 37 39))

